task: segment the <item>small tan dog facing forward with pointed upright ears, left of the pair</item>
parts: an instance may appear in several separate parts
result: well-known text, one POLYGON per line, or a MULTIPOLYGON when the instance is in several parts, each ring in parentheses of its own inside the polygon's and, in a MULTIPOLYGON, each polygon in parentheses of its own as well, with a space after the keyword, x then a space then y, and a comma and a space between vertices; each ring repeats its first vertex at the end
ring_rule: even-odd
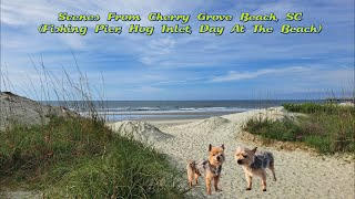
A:
POLYGON ((209 146, 209 159, 194 161, 190 160, 187 169, 189 186, 192 187, 192 180, 195 179, 196 185, 199 184, 199 176, 204 175, 206 181, 207 195, 211 195, 211 181, 214 181, 215 191, 221 191, 219 189, 219 181, 222 171, 222 164, 224 163, 224 145, 221 147, 209 146))

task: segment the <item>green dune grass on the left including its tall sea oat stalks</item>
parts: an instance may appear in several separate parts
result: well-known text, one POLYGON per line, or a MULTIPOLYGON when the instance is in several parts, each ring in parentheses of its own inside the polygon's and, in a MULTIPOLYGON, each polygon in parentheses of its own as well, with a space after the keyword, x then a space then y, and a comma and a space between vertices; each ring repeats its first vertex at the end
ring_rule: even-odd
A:
MULTIPOLYGON (((31 59, 39 82, 29 80, 29 91, 18 90, 85 114, 50 115, 41 125, 13 122, 0 132, 0 191, 20 188, 43 198, 184 198, 181 172, 168 157, 104 125, 105 116, 97 112, 98 105, 104 107, 104 94, 93 97, 104 88, 91 86, 73 60, 77 71, 59 75, 31 59)), ((3 88, 17 93, 11 76, 1 75, 3 88)), ((9 107, 6 114, 18 115, 12 112, 9 107)))

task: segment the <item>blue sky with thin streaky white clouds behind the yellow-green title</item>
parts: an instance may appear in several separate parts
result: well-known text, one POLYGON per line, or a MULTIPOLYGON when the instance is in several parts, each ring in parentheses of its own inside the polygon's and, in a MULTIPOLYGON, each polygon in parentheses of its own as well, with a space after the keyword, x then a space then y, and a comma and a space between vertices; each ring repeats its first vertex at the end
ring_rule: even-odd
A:
MULTIPOLYGON (((31 96, 43 77, 33 67, 43 60, 58 76, 62 69, 78 77, 75 62, 90 84, 108 100, 250 100, 323 98, 329 91, 354 91, 354 1, 352 0, 20 0, 1 1, 1 69, 14 92, 31 96), (59 12, 100 14, 100 22, 59 22, 59 12), (140 14, 140 22, 106 22, 108 12, 140 14), (161 34, 151 12, 190 14, 192 34, 161 34), (200 12, 232 14, 221 36, 199 34, 200 12), (227 31, 241 12, 268 14, 280 21, 248 22, 244 34, 227 31), (286 22, 287 12, 303 12, 303 21, 286 22), (42 23, 89 27, 87 35, 40 34, 42 23), (94 34, 98 23, 122 25, 122 34, 94 34), (129 34, 132 23, 154 25, 153 35, 129 34), (254 34, 252 25, 274 27, 273 34, 254 34), (280 33, 282 24, 322 24, 320 34, 280 33), (104 81, 102 81, 102 77, 104 81), (104 82, 104 83, 103 83, 104 82), (29 86, 31 85, 31 86, 29 86)), ((9 84, 7 85, 9 87, 9 84)), ((4 85, 2 85, 2 90, 4 85)), ((344 94, 344 91, 346 94, 344 94)), ((95 96, 95 98, 98 98, 95 96)))

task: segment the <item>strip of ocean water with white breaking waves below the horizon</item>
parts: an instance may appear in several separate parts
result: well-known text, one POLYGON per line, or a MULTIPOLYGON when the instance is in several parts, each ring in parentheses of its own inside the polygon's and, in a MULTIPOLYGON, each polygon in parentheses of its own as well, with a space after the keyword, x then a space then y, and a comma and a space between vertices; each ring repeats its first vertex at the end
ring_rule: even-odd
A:
MULTIPOLYGON (((94 109, 109 121, 206 118, 251 109, 281 106, 285 103, 323 103, 324 101, 106 101, 93 102, 94 109)), ((47 102, 48 103, 48 102, 47 102)), ((85 102, 49 102, 88 115, 85 102)))

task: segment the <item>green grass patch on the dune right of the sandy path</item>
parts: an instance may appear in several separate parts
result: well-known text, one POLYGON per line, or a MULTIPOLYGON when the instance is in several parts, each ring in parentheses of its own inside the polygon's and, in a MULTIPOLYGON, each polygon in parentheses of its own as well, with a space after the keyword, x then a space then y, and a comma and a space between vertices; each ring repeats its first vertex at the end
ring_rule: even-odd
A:
POLYGON ((355 151, 354 107, 320 104, 287 104, 285 109, 306 115, 296 119, 252 118, 244 129, 281 142, 301 142, 322 154, 355 151))

